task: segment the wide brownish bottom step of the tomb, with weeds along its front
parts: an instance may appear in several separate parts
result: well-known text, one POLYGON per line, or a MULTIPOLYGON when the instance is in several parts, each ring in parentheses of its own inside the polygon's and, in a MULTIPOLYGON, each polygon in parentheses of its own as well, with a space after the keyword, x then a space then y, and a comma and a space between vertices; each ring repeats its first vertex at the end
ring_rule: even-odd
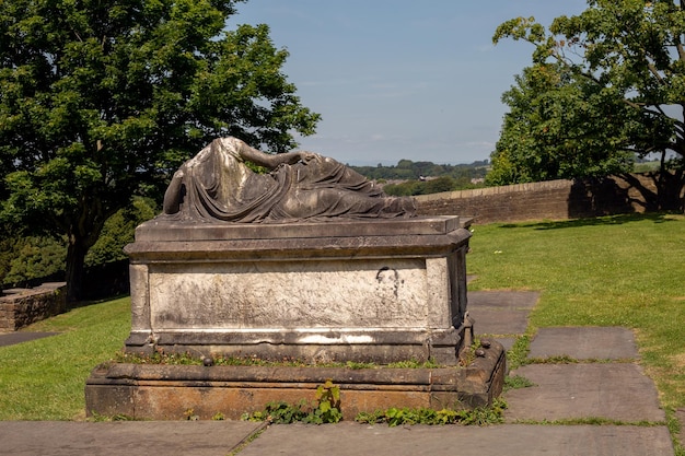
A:
POLYGON ((95 369, 85 387, 89 416, 179 420, 193 410, 201 420, 217 413, 239 420, 271 401, 315 400, 316 388, 332 381, 340 388, 340 410, 352 421, 359 412, 391 407, 472 409, 492 404, 504 379, 504 350, 498 342, 465 367, 345 369, 114 364, 95 369))

